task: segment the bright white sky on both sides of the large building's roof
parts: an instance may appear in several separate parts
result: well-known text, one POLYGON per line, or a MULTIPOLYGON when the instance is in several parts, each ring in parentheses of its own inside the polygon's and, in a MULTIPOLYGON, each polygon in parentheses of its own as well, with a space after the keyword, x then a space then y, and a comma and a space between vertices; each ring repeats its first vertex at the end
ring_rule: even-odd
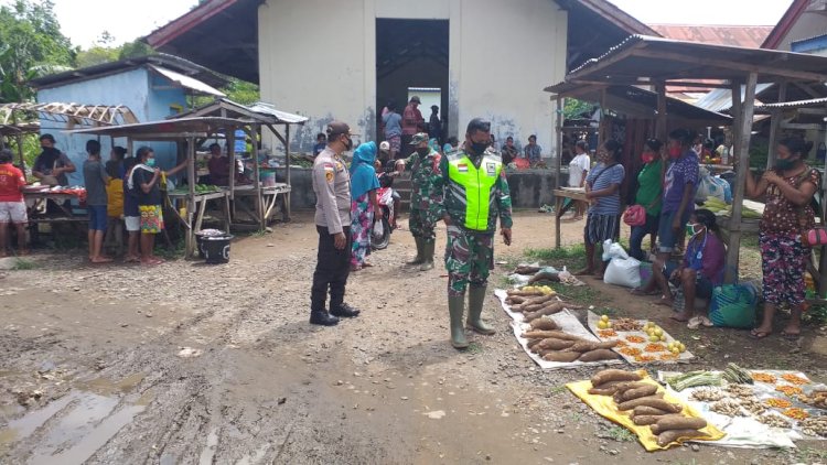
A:
MULTIPOLYGON (((12 0, 0 0, 10 3, 12 0)), ((88 48, 104 31, 115 44, 144 36, 197 0, 53 0, 64 35, 88 48)), ((610 0, 644 23, 775 25, 792 0, 610 0)))

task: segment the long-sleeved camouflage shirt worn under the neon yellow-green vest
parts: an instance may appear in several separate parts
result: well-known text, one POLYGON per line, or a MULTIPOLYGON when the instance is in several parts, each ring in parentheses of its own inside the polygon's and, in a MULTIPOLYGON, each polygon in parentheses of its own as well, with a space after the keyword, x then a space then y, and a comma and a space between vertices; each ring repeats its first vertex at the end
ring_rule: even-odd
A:
MULTIPOLYGON (((473 155, 465 152, 463 149, 459 149, 454 152, 447 153, 440 162, 441 174, 441 187, 444 191, 444 203, 440 204, 440 216, 448 214, 451 217, 451 221, 454 225, 464 227, 465 224, 465 191, 458 183, 450 180, 448 163, 449 161, 468 158, 476 169, 480 169, 483 158, 494 158, 497 162, 502 163, 500 154, 494 150, 486 150, 483 156, 473 155)), ((511 191, 508 190, 508 181, 505 177, 505 166, 503 165, 500 171, 500 176, 492 187, 492 195, 490 196, 488 206, 488 228, 486 231, 493 234, 496 230, 496 220, 500 217, 500 226, 503 228, 512 227, 512 197, 511 191)))

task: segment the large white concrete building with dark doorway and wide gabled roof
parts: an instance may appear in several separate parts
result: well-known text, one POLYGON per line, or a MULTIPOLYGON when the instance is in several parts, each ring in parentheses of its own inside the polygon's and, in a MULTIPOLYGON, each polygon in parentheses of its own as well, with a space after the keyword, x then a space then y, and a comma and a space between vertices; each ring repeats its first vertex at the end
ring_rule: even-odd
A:
POLYGON ((462 140, 484 117, 497 141, 537 134, 548 158, 556 104, 543 88, 631 33, 657 35, 604 0, 212 0, 148 42, 257 80, 262 100, 309 117, 299 150, 331 119, 380 139, 384 105, 401 112, 408 89, 427 87, 440 91, 448 136, 462 140))

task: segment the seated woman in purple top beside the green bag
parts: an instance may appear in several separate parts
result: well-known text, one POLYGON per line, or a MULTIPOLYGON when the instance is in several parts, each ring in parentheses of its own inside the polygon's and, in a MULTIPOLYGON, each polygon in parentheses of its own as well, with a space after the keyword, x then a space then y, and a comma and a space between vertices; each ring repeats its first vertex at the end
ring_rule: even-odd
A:
MULTIPOLYGON (((695 329, 700 325, 712 325, 706 315, 695 315, 695 299, 711 298, 712 288, 721 283, 726 249, 717 236, 718 224, 712 212, 696 210, 689 216, 686 229, 690 239, 681 263, 666 263, 662 273, 653 273, 654 279, 632 293, 648 295, 653 292, 657 293, 655 289, 658 286, 668 289, 666 279, 669 277, 669 281, 684 290, 685 299, 684 310, 672 318, 678 322, 689 322, 688 327, 695 329)), ((658 302, 669 307, 673 303, 672 294, 663 295, 658 302)))

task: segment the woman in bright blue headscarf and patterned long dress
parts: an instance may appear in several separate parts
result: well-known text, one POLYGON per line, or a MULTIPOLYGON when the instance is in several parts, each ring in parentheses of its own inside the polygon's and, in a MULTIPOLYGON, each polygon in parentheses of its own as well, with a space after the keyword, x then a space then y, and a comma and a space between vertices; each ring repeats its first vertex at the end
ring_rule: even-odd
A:
POLYGON ((382 218, 376 197, 379 179, 376 177, 376 142, 365 142, 353 152, 351 163, 351 271, 369 267, 365 258, 370 255, 370 230, 374 224, 374 212, 382 218))

